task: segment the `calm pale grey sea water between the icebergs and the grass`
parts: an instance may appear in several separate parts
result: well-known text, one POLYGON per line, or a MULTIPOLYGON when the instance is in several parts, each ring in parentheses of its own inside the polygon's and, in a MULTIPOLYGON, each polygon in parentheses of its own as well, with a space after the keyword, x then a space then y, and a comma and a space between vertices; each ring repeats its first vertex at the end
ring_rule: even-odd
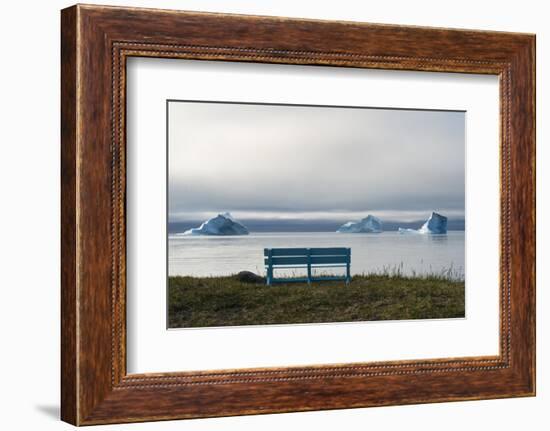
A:
POLYGON ((265 275, 264 248, 276 247, 350 247, 352 274, 397 268, 405 274, 452 269, 454 276, 461 278, 465 272, 464 231, 450 231, 446 235, 277 232, 220 237, 174 234, 168 238, 168 247, 170 275, 221 276, 244 270, 265 275))

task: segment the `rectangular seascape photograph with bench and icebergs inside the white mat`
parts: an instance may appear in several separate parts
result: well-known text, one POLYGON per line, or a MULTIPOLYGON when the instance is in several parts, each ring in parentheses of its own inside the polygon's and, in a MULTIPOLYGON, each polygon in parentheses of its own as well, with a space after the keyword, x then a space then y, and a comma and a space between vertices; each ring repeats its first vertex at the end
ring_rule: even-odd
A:
POLYGON ((465 317, 465 111, 166 109, 168 328, 465 317))

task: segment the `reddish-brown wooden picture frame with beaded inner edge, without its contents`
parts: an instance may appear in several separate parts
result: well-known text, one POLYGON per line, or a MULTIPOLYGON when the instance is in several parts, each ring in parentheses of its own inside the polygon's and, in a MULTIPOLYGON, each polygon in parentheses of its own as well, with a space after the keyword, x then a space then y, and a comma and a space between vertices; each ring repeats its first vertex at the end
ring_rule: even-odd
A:
POLYGON ((534 35, 81 5, 61 17, 63 420, 88 425, 535 394, 534 35), (129 56, 498 75, 500 354, 127 375, 129 56))

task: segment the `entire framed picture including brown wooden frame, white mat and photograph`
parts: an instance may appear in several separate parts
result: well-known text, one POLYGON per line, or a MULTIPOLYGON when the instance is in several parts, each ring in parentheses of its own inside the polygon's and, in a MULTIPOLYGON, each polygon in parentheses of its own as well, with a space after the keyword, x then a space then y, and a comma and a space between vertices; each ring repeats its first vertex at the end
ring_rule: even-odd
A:
POLYGON ((62 419, 535 394, 535 37, 62 11, 62 419))

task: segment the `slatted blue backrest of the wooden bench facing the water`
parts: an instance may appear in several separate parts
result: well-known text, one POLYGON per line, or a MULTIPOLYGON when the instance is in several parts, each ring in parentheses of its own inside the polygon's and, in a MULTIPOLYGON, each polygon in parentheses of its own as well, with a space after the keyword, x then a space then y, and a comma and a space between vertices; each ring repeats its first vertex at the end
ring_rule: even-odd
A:
POLYGON ((264 262, 271 266, 349 264, 350 259, 345 247, 264 249, 264 262))

